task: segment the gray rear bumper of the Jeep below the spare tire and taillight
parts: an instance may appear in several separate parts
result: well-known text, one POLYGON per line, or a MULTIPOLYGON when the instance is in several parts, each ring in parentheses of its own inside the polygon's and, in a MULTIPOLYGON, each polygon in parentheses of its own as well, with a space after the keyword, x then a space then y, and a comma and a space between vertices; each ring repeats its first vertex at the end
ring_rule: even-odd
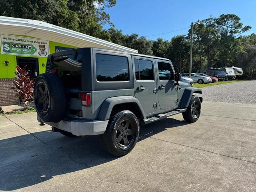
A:
MULTIPOLYGON (((38 122, 44 122, 37 115, 38 122)), ((71 132, 73 135, 100 135, 106 131, 108 120, 61 120, 60 122, 44 122, 60 130, 71 132)))

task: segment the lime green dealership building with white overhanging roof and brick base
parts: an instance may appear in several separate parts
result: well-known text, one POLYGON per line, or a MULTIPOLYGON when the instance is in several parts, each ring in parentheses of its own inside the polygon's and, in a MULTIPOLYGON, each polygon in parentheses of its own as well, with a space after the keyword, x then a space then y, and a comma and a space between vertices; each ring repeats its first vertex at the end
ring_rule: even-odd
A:
POLYGON ((11 89, 17 65, 27 65, 29 76, 36 78, 45 72, 47 56, 54 52, 80 47, 138 52, 46 22, 4 16, 0 16, 0 40, 0 106, 20 103, 11 89))

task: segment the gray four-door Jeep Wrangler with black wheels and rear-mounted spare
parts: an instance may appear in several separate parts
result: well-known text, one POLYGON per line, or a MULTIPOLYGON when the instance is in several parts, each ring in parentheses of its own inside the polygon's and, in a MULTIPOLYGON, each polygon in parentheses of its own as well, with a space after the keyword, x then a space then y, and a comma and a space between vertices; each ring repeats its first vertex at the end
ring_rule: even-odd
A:
POLYGON ((179 80, 165 58, 99 48, 50 54, 34 85, 37 119, 66 136, 101 134, 103 148, 122 156, 140 124, 179 113, 198 120, 202 98, 194 93, 202 90, 179 80))

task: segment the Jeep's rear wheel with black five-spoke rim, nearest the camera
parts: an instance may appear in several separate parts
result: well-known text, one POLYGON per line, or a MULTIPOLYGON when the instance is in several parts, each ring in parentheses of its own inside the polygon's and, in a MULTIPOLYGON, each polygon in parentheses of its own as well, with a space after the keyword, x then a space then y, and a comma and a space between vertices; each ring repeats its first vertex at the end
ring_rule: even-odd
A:
POLYGON ((124 110, 116 113, 108 122, 101 137, 102 147, 114 156, 128 154, 136 145, 140 125, 133 112, 124 110))

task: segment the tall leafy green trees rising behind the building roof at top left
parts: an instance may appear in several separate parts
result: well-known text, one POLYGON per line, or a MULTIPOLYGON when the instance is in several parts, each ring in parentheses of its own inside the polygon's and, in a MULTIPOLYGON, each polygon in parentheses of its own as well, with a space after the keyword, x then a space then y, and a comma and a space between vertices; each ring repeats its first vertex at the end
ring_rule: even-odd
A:
POLYGON ((116 0, 1 0, 0 13, 2 16, 40 20, 108 39, 109 34, 102 25, 114 25, 104 8, 115 4, 116 0))

